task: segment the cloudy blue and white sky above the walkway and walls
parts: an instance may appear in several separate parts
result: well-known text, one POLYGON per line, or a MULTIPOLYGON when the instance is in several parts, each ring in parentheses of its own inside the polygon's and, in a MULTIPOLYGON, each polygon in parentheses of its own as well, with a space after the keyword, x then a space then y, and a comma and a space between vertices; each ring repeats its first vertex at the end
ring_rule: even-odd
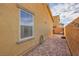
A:
POLYGON ((79 16, 78 3, 51 3, 49 4, 52 15, 60 16, 60 23, 69 24, 79 16))

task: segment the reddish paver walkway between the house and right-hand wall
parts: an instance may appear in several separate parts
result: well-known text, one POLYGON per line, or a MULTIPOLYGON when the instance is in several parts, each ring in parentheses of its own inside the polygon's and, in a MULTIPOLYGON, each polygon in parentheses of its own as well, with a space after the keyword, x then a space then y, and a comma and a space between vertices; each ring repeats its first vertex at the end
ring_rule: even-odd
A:
POLYGON ((27 56, 70 56, 70 52, 66 39, 61 39, 60 35, 54 35, 29 52, 27 56))

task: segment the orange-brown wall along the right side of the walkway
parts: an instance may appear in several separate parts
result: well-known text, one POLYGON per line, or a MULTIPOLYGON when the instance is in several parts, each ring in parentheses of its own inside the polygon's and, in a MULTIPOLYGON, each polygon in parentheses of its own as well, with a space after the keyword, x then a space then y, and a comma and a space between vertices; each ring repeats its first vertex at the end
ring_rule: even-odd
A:
POLYGON ((79 17, 65 27, 65 36, 72 55, 79 55, 79 17))

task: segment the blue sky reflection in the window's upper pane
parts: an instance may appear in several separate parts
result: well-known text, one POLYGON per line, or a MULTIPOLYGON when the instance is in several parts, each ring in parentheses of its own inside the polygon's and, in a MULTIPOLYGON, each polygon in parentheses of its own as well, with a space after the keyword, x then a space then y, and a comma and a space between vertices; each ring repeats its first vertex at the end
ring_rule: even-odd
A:
POLYGON ((21 24, 22 25, 32 25, 33 24, 33 16, 31 13, 28 13, 24 10, 20 10, 20 16, 21 16, 21 24))

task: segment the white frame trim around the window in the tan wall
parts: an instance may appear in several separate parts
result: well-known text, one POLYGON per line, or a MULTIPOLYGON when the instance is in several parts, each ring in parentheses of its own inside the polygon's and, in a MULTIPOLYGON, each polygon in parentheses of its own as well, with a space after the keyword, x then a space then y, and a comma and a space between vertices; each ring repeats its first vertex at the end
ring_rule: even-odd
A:
POLYGON ((21 15, 20 15, 20 10, 23 10, 24 12, 29 13, 28 11, 25 11, 24 9, 19 9, 19 40, 18 40, 18 43, 34 38, 34 15, 32 15, 31 13, 29 13, 29 14, 31 14, 33 16, 33 25, 32 25, 32 27, 33 27, 32 32, 33 33, 32 33, 32 36, 21 38, 21 17, 20 17, 21 15))

